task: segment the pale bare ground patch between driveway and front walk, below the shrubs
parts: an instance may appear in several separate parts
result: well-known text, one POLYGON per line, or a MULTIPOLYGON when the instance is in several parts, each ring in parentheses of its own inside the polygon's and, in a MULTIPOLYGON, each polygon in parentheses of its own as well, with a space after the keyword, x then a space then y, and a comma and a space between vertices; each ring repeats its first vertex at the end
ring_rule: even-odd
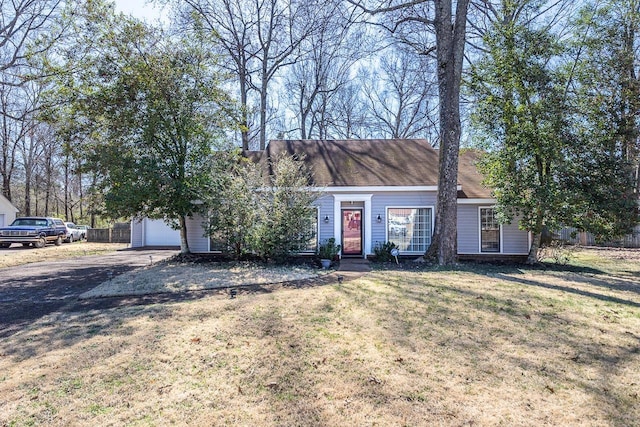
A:
POLYGON ((116 276, 81 294, 80 299, 274 284, 311 279, 326 273, 326 270, 300 266, 163 263, 116 276))

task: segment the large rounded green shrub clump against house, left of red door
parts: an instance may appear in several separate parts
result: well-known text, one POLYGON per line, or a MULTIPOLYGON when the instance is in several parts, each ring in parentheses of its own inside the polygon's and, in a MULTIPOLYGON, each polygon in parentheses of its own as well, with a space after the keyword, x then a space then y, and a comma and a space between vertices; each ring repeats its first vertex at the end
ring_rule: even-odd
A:
POLYGON ((304 164, 288 155, 269 159, 270 176, 245 159, 227 164, 207 200, 208 235, 220 249, 235 259, 252 255, 275 261, 306 249, 315 237, 313 204, 321 194, 310 189, 304 164))

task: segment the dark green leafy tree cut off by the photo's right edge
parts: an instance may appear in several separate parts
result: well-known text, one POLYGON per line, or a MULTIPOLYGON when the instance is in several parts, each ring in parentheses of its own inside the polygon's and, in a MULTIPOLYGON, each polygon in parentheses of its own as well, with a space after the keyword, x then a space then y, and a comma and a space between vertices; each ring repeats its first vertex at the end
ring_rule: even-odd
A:
POLYGON ((581 195, 575 226, 601 240, 629 232, 640 200, 640 2, 587 4, 576 22, 573 91, 581 195))

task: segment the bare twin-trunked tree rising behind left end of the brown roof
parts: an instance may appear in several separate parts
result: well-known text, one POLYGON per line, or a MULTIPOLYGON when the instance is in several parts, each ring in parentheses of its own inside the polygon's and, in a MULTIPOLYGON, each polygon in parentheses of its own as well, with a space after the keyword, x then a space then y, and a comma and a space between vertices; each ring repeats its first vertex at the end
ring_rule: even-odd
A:
POLYGON ((315 2, 185 0, 180 3, 184 3, 185 16, 196 26, 210 31, 228 58, 226 67, 237 79, 242 107, 239 122, 243 149, 250 148, 255 135, 249 116, 256 108, 258 144, 264 149, 270 88, 280 70, 297 61, 302 41, 314 31, 315 2))

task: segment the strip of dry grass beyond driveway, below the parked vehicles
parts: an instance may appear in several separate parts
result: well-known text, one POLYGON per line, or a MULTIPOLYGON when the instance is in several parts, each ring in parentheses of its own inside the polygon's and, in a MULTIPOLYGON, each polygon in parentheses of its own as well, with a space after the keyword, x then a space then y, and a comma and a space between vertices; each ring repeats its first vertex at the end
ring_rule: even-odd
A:
POLYGON ((0 268, 15 267, 39 261, 53 261, 84 255, 97 255, 129 247, 127 243, 73 242, 61 246, 47 245, 42 249, 23 248, 13 244, 11 249, 0 249, 0 268))

